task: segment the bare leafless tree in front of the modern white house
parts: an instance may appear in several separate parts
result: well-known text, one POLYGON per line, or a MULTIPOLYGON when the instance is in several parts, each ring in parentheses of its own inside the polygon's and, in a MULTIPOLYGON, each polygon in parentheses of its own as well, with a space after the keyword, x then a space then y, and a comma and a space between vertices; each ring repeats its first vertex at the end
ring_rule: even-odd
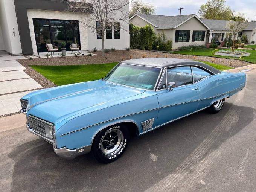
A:
POLYGON ((106 29, 114 28, 116 33, 120 33, 120 29, 129 30, 125 25, 129 23, 128 5, 129 0, 71 0, 68 2, 68 11, 90 13, 87 19, 80 22, 102 39, 104 56, 106 29))

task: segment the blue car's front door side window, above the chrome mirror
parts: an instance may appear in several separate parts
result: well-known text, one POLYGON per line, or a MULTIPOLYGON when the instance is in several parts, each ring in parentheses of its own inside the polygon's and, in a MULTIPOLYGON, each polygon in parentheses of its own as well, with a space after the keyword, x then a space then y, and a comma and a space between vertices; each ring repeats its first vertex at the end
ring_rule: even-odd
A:
POLYGON ((176 87, 193 83, 190 66, 167 69, 167 83, 174 82, 176 87))

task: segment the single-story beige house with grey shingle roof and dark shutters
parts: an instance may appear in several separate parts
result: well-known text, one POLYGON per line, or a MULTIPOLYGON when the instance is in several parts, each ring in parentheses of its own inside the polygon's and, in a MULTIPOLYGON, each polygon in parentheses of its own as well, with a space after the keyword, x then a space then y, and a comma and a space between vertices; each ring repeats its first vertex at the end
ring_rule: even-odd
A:
MULTIPOLYGON (((130 23, 139 27, 150 24, 156 34, 163 30, 166 37, 172 39, 173 49, 191 44, 209 47, 217 40, 222 46, 225 38, 232 32, 228 27, 229 22, 201 19, 195 14, 177 16, 135 14, 130 18, 130 23)), ((255 41, 256 22, 249 22, 247 28, 238 34, 238 38, 242 34, 247 34, 249 43, 255 41)))

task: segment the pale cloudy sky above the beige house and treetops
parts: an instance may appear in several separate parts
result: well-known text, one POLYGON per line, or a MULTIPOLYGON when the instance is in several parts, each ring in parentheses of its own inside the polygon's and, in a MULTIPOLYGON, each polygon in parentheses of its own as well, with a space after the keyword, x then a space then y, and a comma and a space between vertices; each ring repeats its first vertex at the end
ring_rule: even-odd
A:
MULTIPOLYGON (((142 0, 144 3, 150 3, 156 8, 157 15, 179 15, 178 8, 182 15, 197 14, 200 5, 207 0, 142 0)), ((256 0, 226 0, 226 5, 230 7, 234 13, 242 13, 249 21, 256 20, 256 0)))

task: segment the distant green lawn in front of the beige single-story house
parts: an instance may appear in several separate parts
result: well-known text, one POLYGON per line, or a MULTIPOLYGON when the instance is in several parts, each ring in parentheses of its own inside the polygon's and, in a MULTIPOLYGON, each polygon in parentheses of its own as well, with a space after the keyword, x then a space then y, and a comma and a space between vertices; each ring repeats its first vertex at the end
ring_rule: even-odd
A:
MULTIPOLYGON (((174 52, 169 52, 169 53, 212 57, 212 50, 215 50, 215 48, 213 48, 213 49, 196 49, 196 50, 194 50, 194 53, 191 53, 190 50, 180 50, 180 51, 174 51, 174 52)), ((218 50, 220 50, 220 49, 218 49, 218 50)), ((224 49, 224 50, 227 50, 227 49, 224 49)), ((245 56, 242 58, 242 60, 251 62, 251 63, 256 63, 256 50, 245 50, 245 51, 249 52, 250 56, 245 56)), ((215 55, 215 57, 226 58, 226 59, 239 59, 236 57, 220 56, 220 55, 215 55)))

